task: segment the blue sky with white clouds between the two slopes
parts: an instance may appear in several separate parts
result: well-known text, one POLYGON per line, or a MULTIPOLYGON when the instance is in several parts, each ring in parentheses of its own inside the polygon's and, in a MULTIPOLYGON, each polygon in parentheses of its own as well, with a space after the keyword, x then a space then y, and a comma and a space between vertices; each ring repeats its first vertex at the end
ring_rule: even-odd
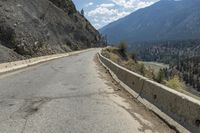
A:
POLYGON ((103 26, 158 0, 72 0, 77 10, 83 9, 85 17, 100 29, 103 26))

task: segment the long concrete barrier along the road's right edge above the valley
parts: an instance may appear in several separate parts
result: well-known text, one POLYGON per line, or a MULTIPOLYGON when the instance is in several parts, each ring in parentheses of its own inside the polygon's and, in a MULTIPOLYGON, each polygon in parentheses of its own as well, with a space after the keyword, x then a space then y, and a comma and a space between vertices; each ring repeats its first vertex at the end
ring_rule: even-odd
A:
POLYGON ((179 132, 200 133, 200 101, 151 81, 103 57, 101 63, 125 89, 179 132), (128 88, 127 88, 128 87, 128 88), (131 93, 131 92, 130 92, 131 93), (132 93, 131 93, 132 94, 132 93))

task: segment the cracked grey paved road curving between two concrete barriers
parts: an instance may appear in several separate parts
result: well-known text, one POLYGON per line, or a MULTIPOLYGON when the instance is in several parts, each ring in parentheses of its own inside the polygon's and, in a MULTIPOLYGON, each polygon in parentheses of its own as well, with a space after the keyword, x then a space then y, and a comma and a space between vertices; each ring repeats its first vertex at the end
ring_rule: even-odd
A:
POLYGON ((97 51, 0 75, 0 133, 173 132, 115 85, 97 51))

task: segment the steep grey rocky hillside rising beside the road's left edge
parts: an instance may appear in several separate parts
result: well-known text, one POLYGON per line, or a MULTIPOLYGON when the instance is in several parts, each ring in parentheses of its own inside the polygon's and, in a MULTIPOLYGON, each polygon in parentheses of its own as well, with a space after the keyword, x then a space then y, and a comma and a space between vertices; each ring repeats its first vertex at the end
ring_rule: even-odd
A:
POLYGON ((0 62, 100 45, 71 0, 0 1, 0 62))

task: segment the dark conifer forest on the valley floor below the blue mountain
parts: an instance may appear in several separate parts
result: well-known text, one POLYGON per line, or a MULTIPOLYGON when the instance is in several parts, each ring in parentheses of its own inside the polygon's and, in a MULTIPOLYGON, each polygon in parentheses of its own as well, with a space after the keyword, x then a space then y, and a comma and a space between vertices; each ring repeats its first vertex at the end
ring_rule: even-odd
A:
POLYGON ((200 91, 200 40, 152 42, 132 49, 140 60, 169 64, 168 75, 179 75, 200 91))

